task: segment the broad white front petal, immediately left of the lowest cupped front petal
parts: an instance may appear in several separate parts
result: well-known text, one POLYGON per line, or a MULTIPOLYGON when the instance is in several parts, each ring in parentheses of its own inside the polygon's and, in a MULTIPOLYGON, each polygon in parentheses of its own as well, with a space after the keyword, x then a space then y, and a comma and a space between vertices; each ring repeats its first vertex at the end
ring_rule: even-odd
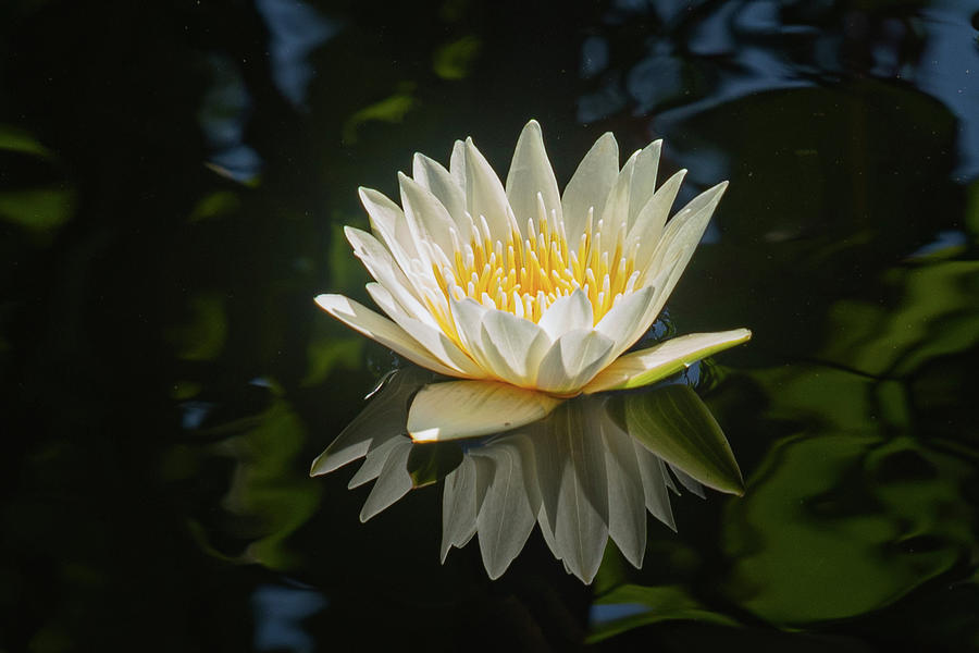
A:
POLYGON ((483 313, 481 336, 494 372, 516 385, 533 385, 541 359, 550 346, 543 329, 530 320, 490 309, 483 313))

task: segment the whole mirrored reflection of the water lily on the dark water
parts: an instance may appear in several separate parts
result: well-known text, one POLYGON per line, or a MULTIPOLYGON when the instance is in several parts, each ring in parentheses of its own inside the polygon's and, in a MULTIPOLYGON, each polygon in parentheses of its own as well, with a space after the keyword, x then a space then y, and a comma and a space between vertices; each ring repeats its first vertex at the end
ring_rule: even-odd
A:
MULTIPOLYGON (((536 523, 565 568, 591 582, 609 538, 630 563, 642 566, 647 512, 676 530, 669 490, 679 493, 682 485, 701 496, 702 484, 743 491, 727 440, 686 385, 584 395, 505 433, 412 442, 406 428, 409 403, 432 380, 413 367, 392 372, 315 459, 311 475, 364 458, 349 483, 375 481, 360 514, 363 521, 411 489, 444 479, 443 562, 451 546, 479 535, 486 571, 498 578, 536 523)), ((466 383, 479 382, 454 383, 464 392, 466 383)))

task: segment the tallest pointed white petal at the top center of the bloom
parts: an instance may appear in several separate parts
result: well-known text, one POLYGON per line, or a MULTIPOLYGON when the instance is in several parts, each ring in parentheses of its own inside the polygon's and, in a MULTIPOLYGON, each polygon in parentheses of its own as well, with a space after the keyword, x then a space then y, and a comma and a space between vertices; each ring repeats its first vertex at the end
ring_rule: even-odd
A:
POLYGON ((517 139, 517 149, 507 174, 507 199, 521 226, 528 220, 537 222, 537 194, 544 199, 544 209, 548 221, 552 211, 561 219, 561 196, 558 192, 554 170, 544 150, 544 137, 541 125, 532 120, 526 123, 517 139))

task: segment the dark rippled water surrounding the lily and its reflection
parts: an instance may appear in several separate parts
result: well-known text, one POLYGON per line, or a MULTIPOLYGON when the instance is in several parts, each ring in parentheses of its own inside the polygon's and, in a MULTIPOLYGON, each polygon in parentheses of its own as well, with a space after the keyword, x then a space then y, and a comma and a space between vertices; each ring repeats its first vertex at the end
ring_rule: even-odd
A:
POLYGON ((979 650, 979 2, 0 5, 0 651, 979 650), (593 586, 311 460, 392 356, 343 224, 471 135, 731 187, 668 305, 741 498, 593 586))

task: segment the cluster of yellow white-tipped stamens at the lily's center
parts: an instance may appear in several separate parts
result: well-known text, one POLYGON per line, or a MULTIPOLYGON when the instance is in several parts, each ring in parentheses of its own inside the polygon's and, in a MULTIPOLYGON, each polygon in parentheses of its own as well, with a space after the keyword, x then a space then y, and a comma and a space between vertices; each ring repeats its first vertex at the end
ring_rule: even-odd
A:
MULTIPOLYGON (((533 322, 559 297, 581 288, 591 301, 593 324, 597 324, 618 297, 633 291, 640 275, 635 270, 639 245, 625 251, 625 232, 624 224, 608 230, 599 220, 593 225, 590 211, 578 247, 572 248, 563 222, 548 223, 542 210, 536 223, 528 221, 525 236, 515 224, 504 243, 494 242, 481 220, 479 226, 473 224, 469 243, 453 233, 450 264, 441 269, 435 264, 433 270, 446 299, 470 297, 533 322), (603 246, 603 237, 610 247, 603 246)), ((433 310, 433 315, 438 312, 433 310)), ((446 321, 444 331, 453 335, 451 320, 446 321)))

